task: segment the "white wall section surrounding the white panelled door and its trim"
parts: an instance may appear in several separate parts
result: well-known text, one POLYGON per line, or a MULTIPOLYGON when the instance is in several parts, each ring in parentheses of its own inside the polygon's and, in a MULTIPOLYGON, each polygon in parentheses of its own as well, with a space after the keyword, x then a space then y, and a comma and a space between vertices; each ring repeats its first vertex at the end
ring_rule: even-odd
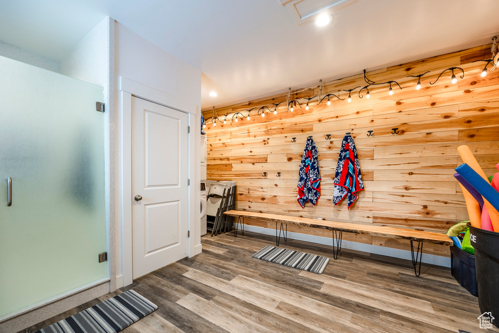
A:
MULTIPOLYGON (((115 82, 119 82, 119 77, 124 77, 142 85, 151 87, 176 98, 188 101, 197 105, 196 125, 192 125, 197 130, 191 130, 196 135, 195 142, 200 141, 200 114, 201 114, 201 70, 189 65, 148 40, 132 32, 122 24, 115 24, 115 82)), ((120 124, 122 121, 121 96, 118 87, 115 87, 116 105, 116 176, 121 179, 121 146, 120 146, 120 124)), ((191 186, 194 186, 196 197, 193 205, 200 207, 200 147, 195 147, 196 179, 191 177, 191 186)), ((124 161, 130 163, 131 161, 124 161)), ((116 198, 122 193, 121 184, 116 183, 116 198)), ((131 198, 128 198, 131 200, 131 198)), ((124 198, 124 200, 127 200, 124 198)), ((199 209, 197 218, 199 224, 199 209)), ((116 201, 116 276, 117 287, 122 282, 123 274, 123 217, 122 207, 119 200, 116 201)), ((197 231, 191 229, 191 241, 195 240, 195 245, 201 250, 200 228, 197 231)))

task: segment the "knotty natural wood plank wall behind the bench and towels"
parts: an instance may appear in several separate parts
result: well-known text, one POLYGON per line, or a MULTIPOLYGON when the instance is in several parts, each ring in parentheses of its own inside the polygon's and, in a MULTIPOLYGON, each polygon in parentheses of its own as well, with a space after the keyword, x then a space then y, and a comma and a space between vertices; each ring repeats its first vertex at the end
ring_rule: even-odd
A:
MULTIPOLYGON (((371 86, 370 99, 359 99, 354 93, 351 103, 331 99, 330 106, 325 101, 320 105, 311 102, 308 111, 303 105, 291 113, 284 106, 276 115, 253 113, 250 120, 215 127, 208 123, 207 178, 237 182, 237 209, 445 232, 468 218, 453 177, 454 168, 462 163, 456 148, 468 144, 487 174, 497 172, 499 69, 489 68, 482 78, 485 63, 473 63, 490 56, 490 45, 484 45, 368 72, 374 81, 397 80, 403 89, 394 87, 392 96, 387 86, 371 86), (442 70, 452 66, 462 67, 465 77, 452 84, 448 71, 430 85, 442 70), (407 75, 426 71, 430 72, 422 77, 418 91, 417 78, 407 75), (391 134, 394 127, 400 130, 396 135, 391 134), (367 136, 368 130, 373 130, 374 136, 367 136), (334 170, 345 132, 354 137, 365 185, 350 210, 346 200, 338 206, 332 204, 334 170), (330 140, 325 139, 326 134, 331 135, 330 140), (319 149, 322 192, 316 207, 307 203, 302 209, 296 202, 296 184, 309 135, 319 149), (291 142, 293 137, 295 143, 291 142)), ((362 74, 324 84, 327 93, 364 85, 362 74)), ((293 91, 292 98, 317 93, 318 85, 293 91)), ((339 94, 342 98, 348 95, 339 94)), ((285 99, 285 95, 271 96, 216 111, 220 116, 263 105, 273 110, 271 103, 285 99)), ((205 117, 211 116, 212 110, 205 112, 205 117)), ((250 224, 275 228, 260 221, 250 224)), ((319 229, 289 225, 288 230, 331 237, 330 231, 319 229)), ((343 237, 410 249, 410 243, 402 240, 353 234, 343 237)), ((449 256, 449 249, 425 245, 425 253, 449 256)))

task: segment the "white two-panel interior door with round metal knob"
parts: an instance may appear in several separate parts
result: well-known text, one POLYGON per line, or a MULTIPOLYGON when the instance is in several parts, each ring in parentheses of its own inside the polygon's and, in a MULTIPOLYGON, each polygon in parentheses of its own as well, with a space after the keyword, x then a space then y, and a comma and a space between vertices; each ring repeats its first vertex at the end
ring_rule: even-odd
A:
POLYGON ((132 97, 133 278, 188 256, 188 115, 132 97))

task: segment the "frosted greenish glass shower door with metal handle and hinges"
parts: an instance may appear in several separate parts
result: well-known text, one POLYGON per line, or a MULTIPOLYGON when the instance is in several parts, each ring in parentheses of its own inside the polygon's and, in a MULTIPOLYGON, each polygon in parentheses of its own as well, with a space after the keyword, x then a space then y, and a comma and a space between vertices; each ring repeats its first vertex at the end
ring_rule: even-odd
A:
POLYGON ((0 318, 107 276, 97 101, 102 87, 0 57, 0 318))

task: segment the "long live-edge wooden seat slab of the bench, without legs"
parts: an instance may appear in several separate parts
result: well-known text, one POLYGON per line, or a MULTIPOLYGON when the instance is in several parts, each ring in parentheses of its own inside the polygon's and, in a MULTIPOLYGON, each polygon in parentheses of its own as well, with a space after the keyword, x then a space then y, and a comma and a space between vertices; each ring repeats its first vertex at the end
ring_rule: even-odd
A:
POLYGON ((225 214, 235 217, 240 217, 240 216, 248 217, 268 222, 281 222, 281 223, 289 223, 310 228, 344 231, 354 234, 383 236, 390 238, 402 238, 416 242, 427 242, 432 244, 441 244, 449 246, 453 244, 452 240, 449 237, 447 237, 447 235, 429 232, 429 231, 394 228, 387 226, 374 226, 374 225, 367 225, 367 224, 360 224, 353 222, 324 221, 319 219, 309 219, 303 217, 269 214, 269 213, 246 212, 246 211, 237 211, 237 210, 227 211, 225 212, 225 214))

